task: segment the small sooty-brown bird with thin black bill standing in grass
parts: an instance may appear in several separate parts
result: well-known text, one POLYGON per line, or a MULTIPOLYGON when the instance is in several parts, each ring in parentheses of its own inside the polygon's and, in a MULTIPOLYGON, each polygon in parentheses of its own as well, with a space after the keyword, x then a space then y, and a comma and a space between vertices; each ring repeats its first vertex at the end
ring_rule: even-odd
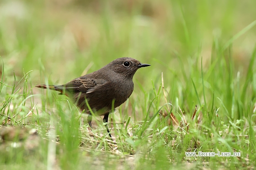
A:
MULTIPOLYGON (((77 106, 88 114, 86 100, 93 111, 98 116, 104 115, 103 122, 107 123, 108 115, 113 108, 117 108, 124 103, 133 93, 133 75, 140 67, 148 67, 149 64, 142 64, 138 60, 129 57, 117 58, 105 67, 75 78, 64 85, 37 85, 37 88, 48 88, 59 91, 73 99, 77 106)), ((91 116, 87 121, 91 126, 91 116)), ((111 134, 105 125, 109 136, 111 134)))

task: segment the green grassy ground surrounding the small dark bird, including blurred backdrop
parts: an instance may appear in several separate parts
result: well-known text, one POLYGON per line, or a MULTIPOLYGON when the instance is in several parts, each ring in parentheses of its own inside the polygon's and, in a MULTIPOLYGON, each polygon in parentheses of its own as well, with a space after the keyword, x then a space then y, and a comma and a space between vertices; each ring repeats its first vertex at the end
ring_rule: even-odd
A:
POLYGON ((1 169, 253 169, 255 2, 0 2, 1 169), (10 10, 12 9, 12 10, 10 10), (118 57, 150 67, 88 130, 57 92, 118 57), (186 152, 240 152, 238 157, 186 152))

